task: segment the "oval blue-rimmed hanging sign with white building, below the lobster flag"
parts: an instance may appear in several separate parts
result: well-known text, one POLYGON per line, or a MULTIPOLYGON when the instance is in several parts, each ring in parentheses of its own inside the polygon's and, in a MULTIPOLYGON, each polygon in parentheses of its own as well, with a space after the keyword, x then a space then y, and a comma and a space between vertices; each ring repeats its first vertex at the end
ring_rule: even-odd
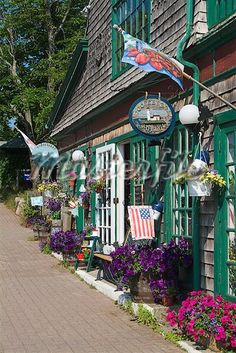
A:
POLYGON ((160 140, 175 126, 175 111, 164 98, 147 96, 137 99, 129 110, 132 128, 149 140, 160 140))

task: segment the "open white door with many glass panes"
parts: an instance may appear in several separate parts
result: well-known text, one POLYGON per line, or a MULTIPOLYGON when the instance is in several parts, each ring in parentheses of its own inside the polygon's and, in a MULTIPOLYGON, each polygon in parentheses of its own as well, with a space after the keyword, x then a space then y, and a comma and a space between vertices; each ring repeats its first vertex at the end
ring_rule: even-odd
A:
POLYGON ((96 228, 103 244, 116 241, 116 146, 106 145, 96 150, 97 177, 105 175, 106 186, 96 194, 96 228))

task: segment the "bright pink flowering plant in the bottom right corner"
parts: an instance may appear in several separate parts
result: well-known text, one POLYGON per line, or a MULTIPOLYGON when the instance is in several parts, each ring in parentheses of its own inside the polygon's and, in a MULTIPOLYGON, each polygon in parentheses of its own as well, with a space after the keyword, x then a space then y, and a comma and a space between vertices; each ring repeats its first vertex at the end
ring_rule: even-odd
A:
POLYGON ((214 298, 202 291, 192 291, 178 311, 167 309, 166 319, 182 335, 205 347, 235 351, 236 303, 214 298))

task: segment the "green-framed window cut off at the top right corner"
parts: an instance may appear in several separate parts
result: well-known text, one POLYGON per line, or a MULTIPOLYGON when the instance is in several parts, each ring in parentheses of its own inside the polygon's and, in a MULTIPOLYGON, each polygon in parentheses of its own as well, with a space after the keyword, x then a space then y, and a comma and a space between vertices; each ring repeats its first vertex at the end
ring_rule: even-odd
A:
POLYGON ((207 0, 207 23, 212 28, 236 11, 235 0, 207 0))

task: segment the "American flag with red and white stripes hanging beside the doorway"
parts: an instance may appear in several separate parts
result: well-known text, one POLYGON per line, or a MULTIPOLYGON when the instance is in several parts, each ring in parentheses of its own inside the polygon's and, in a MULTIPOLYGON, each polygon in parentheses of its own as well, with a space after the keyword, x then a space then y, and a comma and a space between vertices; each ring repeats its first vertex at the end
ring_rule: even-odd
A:
POLYGON ((131 235, 134 239, 154 238, 154 220, 151 206, 128 206, 131 235))

